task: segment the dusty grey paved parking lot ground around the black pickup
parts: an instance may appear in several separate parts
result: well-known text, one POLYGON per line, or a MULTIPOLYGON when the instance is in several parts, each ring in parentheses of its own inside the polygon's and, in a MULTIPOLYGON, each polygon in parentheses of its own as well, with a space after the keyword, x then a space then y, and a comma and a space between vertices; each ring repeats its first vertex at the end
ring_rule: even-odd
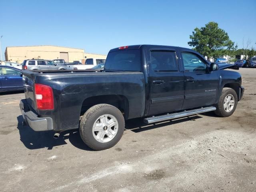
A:
POLYGON ((241 68, 234 114, 126 122, 120 142, 93 151, 78 130, 22 126, 22 92, 0 94, 0 191, 256 191, 256 68, 241 68))

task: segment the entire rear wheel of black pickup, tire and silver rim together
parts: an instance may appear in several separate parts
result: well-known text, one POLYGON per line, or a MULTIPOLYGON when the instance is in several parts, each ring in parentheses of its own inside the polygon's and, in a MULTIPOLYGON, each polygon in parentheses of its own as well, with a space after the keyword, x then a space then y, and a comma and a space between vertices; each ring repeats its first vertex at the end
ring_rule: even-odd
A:
POLYGON ((98 104, 84 113, 80 121, 79 132, 88 147, 94 150, 104 150, 118 143, 124 133, 124 126, 124 116, 118 108, 108 104, 98 104))

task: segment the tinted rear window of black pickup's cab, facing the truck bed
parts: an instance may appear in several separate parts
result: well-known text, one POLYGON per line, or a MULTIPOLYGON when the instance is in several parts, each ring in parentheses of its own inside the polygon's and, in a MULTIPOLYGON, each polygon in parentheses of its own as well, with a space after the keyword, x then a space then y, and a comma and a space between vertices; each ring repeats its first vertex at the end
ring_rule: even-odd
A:
POLYGON ((121 50, 108 53, 104 69, 140 71, 140 50, 121 50))

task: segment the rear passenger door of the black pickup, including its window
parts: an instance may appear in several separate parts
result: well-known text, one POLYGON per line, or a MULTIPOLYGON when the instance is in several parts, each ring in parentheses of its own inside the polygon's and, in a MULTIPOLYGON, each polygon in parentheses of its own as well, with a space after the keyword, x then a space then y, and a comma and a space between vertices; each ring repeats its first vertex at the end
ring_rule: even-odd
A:
POLYGON ((184 102, 184 75, 175 50, 150 50, 149 115, 177 111, 184 102))

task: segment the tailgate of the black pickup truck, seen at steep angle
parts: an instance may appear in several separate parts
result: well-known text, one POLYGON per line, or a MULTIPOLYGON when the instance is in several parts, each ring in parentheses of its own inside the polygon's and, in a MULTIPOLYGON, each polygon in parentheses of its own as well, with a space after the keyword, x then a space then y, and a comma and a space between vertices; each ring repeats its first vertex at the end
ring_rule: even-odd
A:
POLYGON ((31 72, 28 70, 23 70, 23 86, 24 86, 24 93, 26 102, 30 110, 36 111, 36 102, 34 98, 34 77, 37 72, 31 72))

